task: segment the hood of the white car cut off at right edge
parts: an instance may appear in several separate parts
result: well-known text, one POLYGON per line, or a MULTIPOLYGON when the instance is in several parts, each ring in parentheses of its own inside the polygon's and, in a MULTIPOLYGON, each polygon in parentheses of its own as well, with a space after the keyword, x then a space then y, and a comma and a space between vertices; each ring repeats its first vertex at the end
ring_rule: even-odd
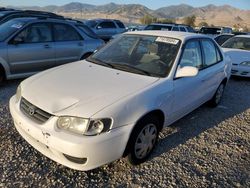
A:
POLYGON ((233 65, 250 61, 250 51, 233 48, 222 48, 222 50, 226 55, 230 56, 233 65))

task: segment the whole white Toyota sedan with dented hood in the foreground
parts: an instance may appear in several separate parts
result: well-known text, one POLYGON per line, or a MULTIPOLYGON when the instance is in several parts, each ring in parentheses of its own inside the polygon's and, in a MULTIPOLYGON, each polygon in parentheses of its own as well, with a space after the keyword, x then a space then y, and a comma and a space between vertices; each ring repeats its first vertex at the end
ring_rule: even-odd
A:
POLYGON ((159 131, 207 101, 230 77, 219 46, 192 33, 121 35, 86 60, 24 80, 10 99, 20 135, 52 160, 90 170, 144 162, 159 131))

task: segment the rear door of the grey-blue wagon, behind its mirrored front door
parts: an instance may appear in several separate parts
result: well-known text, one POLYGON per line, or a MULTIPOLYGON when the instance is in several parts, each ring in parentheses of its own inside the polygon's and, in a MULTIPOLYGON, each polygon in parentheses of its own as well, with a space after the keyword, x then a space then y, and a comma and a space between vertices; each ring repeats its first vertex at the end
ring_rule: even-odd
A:
POLYGON ((74 27, 63 23, 53 23, 53 34, 57 65, 81 59, 84 39, 74 27))

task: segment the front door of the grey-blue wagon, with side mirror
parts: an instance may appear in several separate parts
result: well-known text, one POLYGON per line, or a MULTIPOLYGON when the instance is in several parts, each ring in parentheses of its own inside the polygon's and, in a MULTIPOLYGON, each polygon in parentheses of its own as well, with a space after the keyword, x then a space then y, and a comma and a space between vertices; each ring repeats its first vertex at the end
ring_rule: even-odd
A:
POLYGON ((32 73, 55 66, 55 46, 49 23, 34 23, 24 28, 9 42, 8 60, 13 74, 32 73))

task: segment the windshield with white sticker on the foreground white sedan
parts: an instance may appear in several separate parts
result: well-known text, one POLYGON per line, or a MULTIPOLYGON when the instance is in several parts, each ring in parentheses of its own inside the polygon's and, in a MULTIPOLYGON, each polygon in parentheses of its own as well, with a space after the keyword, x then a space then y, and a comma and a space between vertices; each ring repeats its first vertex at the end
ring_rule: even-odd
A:
POLYGON ((168 37, 122 35, 88 61, 153 77, 166 77, 175 61, 180 40, 168 37))

